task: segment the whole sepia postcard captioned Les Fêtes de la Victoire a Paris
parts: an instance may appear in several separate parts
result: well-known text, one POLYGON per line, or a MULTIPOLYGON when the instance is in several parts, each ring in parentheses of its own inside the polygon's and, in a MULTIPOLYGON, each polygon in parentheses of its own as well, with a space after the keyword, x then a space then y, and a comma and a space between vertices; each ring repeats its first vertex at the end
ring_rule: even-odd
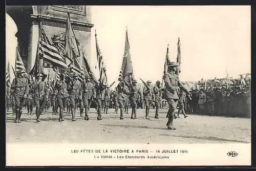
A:
POLYGON ((9 166, 250 165, 250 6, 6 6, 5 67, 9 166))

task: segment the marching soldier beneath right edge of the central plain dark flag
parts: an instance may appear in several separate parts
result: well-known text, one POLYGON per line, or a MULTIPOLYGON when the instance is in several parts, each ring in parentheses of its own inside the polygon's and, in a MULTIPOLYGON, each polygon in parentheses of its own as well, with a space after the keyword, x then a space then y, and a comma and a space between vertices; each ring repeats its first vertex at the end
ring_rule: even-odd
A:
POLYGON ((136 87, 137 80, 132 80, 132 84, 130 84, 130 102, 132 107, 132 116, 131 119, 137 119, 137 99, 138 95, 141 95, 140 90, 136 87))

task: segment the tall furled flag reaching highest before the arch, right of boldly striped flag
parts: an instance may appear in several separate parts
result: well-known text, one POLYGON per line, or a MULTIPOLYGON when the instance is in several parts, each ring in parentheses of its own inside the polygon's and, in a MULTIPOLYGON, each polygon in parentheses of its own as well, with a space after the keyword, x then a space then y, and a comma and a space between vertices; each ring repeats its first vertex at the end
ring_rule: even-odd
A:
POLYGON ((68 66, 73 62, 74 60, 73 58, 80 56, 80 52, 77 44, 78 44, 78 41, 71 27, 70 14, 68 13, 67 26, 66 26, 66 46, 65 46, 65 57, 66 57, 66 62, 68 66))

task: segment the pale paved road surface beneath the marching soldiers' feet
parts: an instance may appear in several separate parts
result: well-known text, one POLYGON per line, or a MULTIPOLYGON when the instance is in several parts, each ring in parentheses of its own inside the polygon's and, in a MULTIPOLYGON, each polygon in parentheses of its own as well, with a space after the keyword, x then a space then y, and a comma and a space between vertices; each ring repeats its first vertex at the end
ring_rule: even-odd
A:
MULTIPOLYGON (((129 111, 129 113, 131 110, 129 111)), ((14 123, 15 116, 6 114, 7 143, 250 143, 251 121, 246 118, 189 115, 174 120, 177 130, 167 130, 167 110, 160 111, 160 119, 154 118, 151 109, 150 120, 145 119, 144 110, 138 110, 138 119, 120 120, 110 109, 103 114, 103 120, 96 120, 91 109, 91 120, 86 121, 77 111, 77 121, 65 114, 65 121, 59 122, 58 115, 47 112, 41 115, 41 122, 35 122, 35 114, 27 115, 24 110, 22 123, 14 123), (79 116, 78 116, 79 115, 79 116), (52 116, 52 120, 51 120, 52 116)))

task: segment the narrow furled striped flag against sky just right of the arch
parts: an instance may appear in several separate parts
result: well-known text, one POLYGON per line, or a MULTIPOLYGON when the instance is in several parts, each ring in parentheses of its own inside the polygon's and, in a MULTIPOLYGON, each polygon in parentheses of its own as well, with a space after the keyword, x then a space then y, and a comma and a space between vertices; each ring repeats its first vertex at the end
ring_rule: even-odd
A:
POLYGON ((108 82, 108 79, 106 78, 105 64, 103 62, 102 54, 99 49, 96 30, 95 30, 95 40, 96 40, 97 60, 98 60, 98 66, 99 66, 99 81, 102 85, 106 85, 106 83, 108 82))

